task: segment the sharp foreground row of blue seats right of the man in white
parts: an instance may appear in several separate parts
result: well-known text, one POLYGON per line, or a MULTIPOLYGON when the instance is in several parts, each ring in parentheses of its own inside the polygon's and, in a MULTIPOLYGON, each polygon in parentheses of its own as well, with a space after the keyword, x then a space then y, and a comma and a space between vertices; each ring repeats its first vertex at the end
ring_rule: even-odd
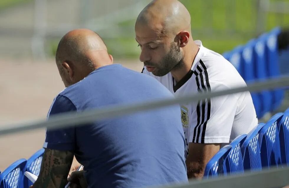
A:
POLYGON ((234 175, 276 166, 289 167, 289 108, 221 148, 208 162, 204 176, 234 175))

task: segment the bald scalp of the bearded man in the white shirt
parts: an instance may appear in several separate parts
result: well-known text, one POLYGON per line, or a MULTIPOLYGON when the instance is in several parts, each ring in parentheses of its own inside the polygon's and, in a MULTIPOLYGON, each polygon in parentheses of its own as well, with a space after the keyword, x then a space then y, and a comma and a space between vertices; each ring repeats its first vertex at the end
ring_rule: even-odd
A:
POLYGON ((185 6, 177 0, 154 0, 137 17, 135 27, 149 26, 160 35, 191 31, 191 16, 185 6))

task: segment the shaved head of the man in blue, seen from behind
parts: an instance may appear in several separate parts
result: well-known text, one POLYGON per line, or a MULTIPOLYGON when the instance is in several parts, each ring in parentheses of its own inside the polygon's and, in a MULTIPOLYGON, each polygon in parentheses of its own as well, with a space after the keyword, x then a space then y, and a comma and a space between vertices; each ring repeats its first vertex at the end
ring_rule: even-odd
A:
POLYGON ((96 68, 112 63, 102 38, 89 29, 66 33, 58 44, 55 60, 66 87, 82 80, 96 68), (75 78, 69 80, 65 70, 75 78))

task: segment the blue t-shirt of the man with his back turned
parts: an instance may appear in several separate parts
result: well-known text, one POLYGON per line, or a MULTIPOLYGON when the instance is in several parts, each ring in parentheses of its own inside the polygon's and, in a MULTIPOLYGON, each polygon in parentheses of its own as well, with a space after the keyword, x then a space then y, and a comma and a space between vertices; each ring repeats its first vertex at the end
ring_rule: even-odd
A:
MULTIPOLYGON (((65 88, 48 113, 173 98, 155 78, 119 64, 65 88)), ((89 187, 146 187, 188 181, 180 107, 146 110, 83 126, 49 130, 44 147, 73 150, 89 187)))

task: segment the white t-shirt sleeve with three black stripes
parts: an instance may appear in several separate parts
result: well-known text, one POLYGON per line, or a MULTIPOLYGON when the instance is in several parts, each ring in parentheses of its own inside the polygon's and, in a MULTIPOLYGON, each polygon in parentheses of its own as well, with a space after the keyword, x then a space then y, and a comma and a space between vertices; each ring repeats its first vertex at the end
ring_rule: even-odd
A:
MULTIPOLYGON (((229 89, 218 81, 204 82, 204 85, 212 92, 229 89)), ((195 118, 190 119, 190 142, 229 143, 237 101, 234 94, 198 101, 191 116, 195 118)))

